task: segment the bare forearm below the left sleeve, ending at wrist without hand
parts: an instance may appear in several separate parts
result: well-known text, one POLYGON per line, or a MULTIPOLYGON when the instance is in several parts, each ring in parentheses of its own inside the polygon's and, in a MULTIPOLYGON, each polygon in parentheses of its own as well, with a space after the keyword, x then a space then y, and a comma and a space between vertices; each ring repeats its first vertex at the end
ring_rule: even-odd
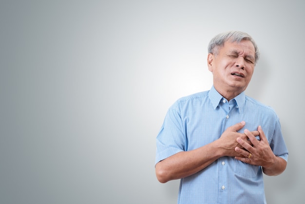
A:
POLYGON ((216 141, 191 151, 179 152, 156 164, 157 179, 166 183, 190 176, 222 157, 223 153, 216 141))

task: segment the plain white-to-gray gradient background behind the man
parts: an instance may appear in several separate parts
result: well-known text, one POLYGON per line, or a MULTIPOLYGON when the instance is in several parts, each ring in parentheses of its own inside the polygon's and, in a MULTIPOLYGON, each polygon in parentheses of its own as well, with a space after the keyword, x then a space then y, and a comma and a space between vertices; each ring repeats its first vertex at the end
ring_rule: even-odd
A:
POLYGON ((207 46, 229 30, 258 43, 247 94, 276 110, 289 149, 286 171, 264 177, 267 202, 302 203, 304 6, 1 0, 0 203, 175 204, 155 137, 174 101, 210 89, 207 46))

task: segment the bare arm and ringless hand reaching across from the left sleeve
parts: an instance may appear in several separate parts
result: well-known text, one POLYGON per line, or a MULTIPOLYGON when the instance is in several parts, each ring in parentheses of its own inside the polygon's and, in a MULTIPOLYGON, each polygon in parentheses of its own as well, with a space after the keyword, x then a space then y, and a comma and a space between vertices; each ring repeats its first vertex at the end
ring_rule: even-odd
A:
MULTIPOLYGON (((171 180, 181 179, 199 172, 215 160, 223 156, 242 156, 235 152, 235 147, 240 146, 237 138, 248 141, 243 133, 237 131, 244 127, 245 122, 239 122, 230 126, 221 137, 207 145, 191 151, 178 152, 155 165, 155 172, 159 182, 166 183, 171 180)), ((258 135, 258 131, 253 134, 258 135)), ((248 143, 250 143, 248 141, 248 143)), ((241 146, 240 146, 241 147, 241 146)), ((241 147, 242 148, 242 147, 241 147)))

